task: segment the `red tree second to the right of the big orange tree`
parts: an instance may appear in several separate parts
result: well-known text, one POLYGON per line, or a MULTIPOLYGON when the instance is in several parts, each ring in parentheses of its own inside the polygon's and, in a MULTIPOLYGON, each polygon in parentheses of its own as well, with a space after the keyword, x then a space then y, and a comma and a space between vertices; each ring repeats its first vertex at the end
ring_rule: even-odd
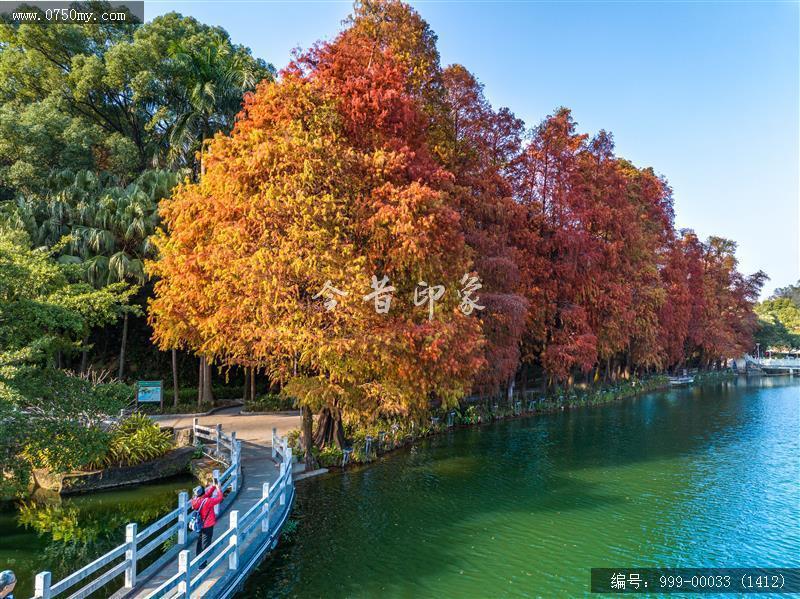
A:
POLYGON ((575 191, 586 145, 586 136, 575 130, 566 109, 545 119, 520 157, 516 181, 528 229, 519 241, 530 302, 527 353, 557 380, 574 368, 587 371, 597 360, 597 337, 581 298, 600 255, 584 227, 585 202, 575 191))

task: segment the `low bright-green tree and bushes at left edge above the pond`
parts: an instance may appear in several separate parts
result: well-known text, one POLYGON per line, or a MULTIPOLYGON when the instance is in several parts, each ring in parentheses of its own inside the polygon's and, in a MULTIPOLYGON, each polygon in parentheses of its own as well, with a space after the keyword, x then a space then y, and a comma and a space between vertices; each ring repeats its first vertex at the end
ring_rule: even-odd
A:
POLYGON ((105 451, 97 424, 130 401, 125 385, 54 368, 59 352, 118 319, 133 293, 124 282, 95 289, 83 269, 0 223, 0 496, 24 490, 33 468, 97 460, 105 451))

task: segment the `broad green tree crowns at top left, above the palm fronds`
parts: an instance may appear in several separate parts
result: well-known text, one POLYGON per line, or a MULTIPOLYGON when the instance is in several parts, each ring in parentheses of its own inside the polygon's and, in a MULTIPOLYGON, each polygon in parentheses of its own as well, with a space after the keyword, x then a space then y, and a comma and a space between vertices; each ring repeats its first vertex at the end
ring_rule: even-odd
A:
POLYGON ((223 29, 177 13, 138 27, 0 24, 0 193, 42 191, 64 168, 127 183, 194 166, 202 138, 273 76, 223 29))

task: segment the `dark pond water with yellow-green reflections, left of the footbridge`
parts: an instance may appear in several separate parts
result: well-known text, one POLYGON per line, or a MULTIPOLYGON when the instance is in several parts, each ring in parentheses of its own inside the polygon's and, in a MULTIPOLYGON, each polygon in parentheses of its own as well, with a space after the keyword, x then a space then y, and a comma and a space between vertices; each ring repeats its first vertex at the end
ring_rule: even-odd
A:
POLYGON ((15 594, 30 597, 37 572, 50 570, 55 581, 88 564, 125 540, 129 522, 144 526, 175 509, 178 493, 191 484, 191 477, 181 476, 64 499, 38 494, 8 504, 0 510, 0 570, 14 570, 15 594))

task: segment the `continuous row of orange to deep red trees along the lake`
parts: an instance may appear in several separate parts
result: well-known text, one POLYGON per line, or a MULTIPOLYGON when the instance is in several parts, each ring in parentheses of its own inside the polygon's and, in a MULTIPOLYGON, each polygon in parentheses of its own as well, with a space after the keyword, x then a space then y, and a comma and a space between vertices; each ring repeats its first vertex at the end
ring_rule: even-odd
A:
POLYGON ((341 444, 343 413, 419 415, 520 374, 708 367, 752 345, 765 276, 738 272, 733 242, 676 231, 666 181, 569 110, 526 130, 493 109, 401 2, 356 3, 209 155, 162 203, 155 339, 263 369, 304 407, 304 435, 322 411, 321 446, 341 444), (465 314, 470 275, 483 309, 465 314), (384 311, 365 301, 381 280, 384 311), (411 298, 431 285, 446 291, 426 312, 411 298))

